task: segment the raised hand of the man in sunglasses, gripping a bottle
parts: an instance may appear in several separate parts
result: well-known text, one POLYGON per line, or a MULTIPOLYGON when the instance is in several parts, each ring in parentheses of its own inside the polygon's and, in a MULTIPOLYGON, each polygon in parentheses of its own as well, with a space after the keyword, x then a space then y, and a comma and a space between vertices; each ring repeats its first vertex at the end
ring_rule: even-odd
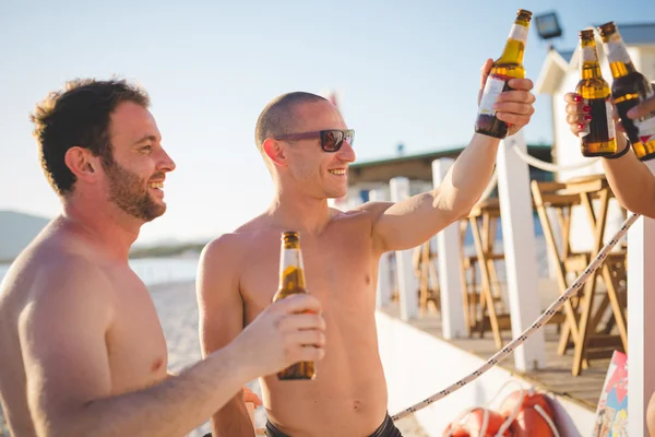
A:
MULTIPOLYGON (((492 63, 492 59, 487 59, 483 64, 478 105, 480 104, 492 63)), ((496 117, 509 125, 508 135, 513 135, 529 122, 532 115, 535 113, 533 105, 536 98, 529 92, 534 86, 529 79, 511 79, 508 85, 512 90, 505 91, 498 96, 493 109, 496 109, 496 117)))

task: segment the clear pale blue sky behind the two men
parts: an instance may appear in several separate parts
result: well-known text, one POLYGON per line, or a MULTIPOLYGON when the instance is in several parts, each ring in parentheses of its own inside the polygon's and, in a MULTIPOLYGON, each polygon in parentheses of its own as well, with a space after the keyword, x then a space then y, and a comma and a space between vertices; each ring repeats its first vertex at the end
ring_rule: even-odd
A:
MULTIPOLYGON (((479 68, 497 58, 519 8, 559 13, 561 49, 614 20, 655 22, 652 1, 19 1, 0 4, 0 210, 48 217, 59 201, 37 163, 27 116, 78 76, 138 80, 177 162, 168 211, 140 243, 205 238, 261 212, 272 196, 255 150, 264 105, 289 91, 336 90, 359 161, 465 144, 479 68)), ((547 51, 531 28, 524 63, 547 51)), ((655 79, 655 78, 654 78, 655 79)), ((528 142, 550 142, 537 96, 528 142)))

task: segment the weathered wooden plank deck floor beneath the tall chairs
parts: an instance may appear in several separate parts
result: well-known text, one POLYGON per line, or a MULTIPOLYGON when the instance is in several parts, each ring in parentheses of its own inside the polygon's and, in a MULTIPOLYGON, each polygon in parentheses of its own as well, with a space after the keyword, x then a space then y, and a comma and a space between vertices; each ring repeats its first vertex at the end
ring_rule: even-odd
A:
MULTIPOLYGON (((395 303, 383 308, 382 311, 393 317, 398 317, 400 314, 397 304, 395 303)), ((431 335, 442 338, 439 315, 430 312, 420 319, 412 320, 409 324, 431 335)), ((556 331, 557 327, 546 326, 544 329, 546 333, 546 366, 543 369, 527 374, 521 373, 514 367, 512 355, 505 357, 498 365, 534 383, 539 390, 565 397, 590 411, 596 411, 600 390, 603 389, 609 366, 609 358, 594 359, 588 368, 584 369, 580 376, 574 377, 571 374, 573 363, 572 352, 569 352, 564 356, 560 356, 557 353, 559 341, 559 335, 556 331)), ((509 343, 512 340, 511 332, 502 332, 502 339, 503 344, 509 343)), ((449 342, 485 361, 498 352, 490 332, 487 332, 483 339, 476 333, 471 339, 457 339, 449 342)), ((464 376, 453 375, 453 382, 464 376)))

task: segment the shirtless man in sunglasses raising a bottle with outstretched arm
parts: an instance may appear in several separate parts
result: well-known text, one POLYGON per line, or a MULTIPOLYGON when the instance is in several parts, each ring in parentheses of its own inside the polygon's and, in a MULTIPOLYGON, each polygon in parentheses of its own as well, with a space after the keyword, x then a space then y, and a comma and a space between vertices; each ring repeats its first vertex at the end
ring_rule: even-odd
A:
MULTIPOLYGON (((491 66, 483 70, 483 86, 491 66)), ((512 80, 499 118, 510 133, 534 111, 529 80, 512 80)), ((473 117, 472 114, 472 122, 473 117)), ((472 129, 473 130, 473 129, 472 129)), ((416 247, 465 216, 487 187, 499 140, 473 134, 444 182, 396 204, 369 202, 341 212, 327 205, 348 189, 354 132, 325 98, 289 93, 260 115, 255 142, 271 172, 271 206, 205 247, 198 277, 204 353, 227 344, 271 304, 277 288, 279 235, 300 235, 308 290, 322 304, 325 358, 315 380, 261 379, 269 436, 400 436, 388 414, 378 352, 376 287, 382 253, 416 247)), ((252 437, 241 394, 212 420, 214 437, 252 437)))

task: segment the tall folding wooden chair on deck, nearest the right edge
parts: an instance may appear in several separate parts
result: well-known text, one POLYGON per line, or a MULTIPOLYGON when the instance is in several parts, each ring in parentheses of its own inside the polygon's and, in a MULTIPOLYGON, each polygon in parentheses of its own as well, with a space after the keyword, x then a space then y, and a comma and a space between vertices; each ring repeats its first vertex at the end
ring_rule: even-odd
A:
MULTIPOLYGON (((614 194, 603 175, 576 178, 567 182, 534 180, 531 189, 548 251, 555 260, 558 286, 560 293, 563 293, 571 285, 569 279, 582 273, 603 247, 609 199, 614 194), (599 203, 597 212, 593 208, 594 200, 599 203), (594 244, 590 251, 571 250, 571 212, 575 206, 582 206, 586 211, 593 229, 594 244), (562 234, 560 247, 556 241, 547 208, 557 214, 562 234)), ((558 352, 563 355, 569 347, 574 349, 572 367, 574 376, 580 375, 590 359, 610 356, 614 347, 617 346, 627 350, 627 319, 623 304, 626 298, 624 293, 621 292, 621 283, 626 280, 624 263, 624 250, 612 252, 577 294, 564 304, 567 323, 560 335, 558 352), (597 291, 598 272, 606 287, 605 295, 597 291), (597 296, 602 297, 599 303, 596 302, 597 296), (597 332, 597 327, 608 307, 611 307, 614 321, 606 326, 606 331, 607 327, 611 328, 616 323, 618 335, 597 332)))

